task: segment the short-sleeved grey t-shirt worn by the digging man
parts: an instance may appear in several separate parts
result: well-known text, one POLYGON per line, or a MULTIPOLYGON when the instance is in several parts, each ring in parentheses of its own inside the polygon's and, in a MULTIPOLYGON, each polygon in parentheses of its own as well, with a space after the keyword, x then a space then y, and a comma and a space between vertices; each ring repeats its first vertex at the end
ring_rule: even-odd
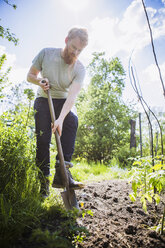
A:
MULTIPOLYGON (((44 48, 33 59, 32 65, 41 72, 43 78, 48 78, 52 98, 67 98, 69 86, 76 82, 82 84, 85 77, 85 67, 77 60, 74 65, 68 65, 61 57, 61 48, 44 48)), ((37 97, 47 94, 39 87, 37 97)))

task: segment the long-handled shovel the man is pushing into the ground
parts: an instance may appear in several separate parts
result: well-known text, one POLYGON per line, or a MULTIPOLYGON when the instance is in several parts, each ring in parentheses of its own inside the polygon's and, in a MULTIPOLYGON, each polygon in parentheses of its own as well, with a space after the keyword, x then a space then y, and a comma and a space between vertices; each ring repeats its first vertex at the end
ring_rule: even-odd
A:
MULTIPOLYGON (((42 80, 42 83, 45 83, 45 80, 42 80)), ((51 97, 49 90, 47 90, 47 94, 48 94, 48 104, 49 104, 51 120, 52 120, 52 123, 54 123, 56 118, 55 118, 53 101, 52 101, 52 97, 51 97)), ((79 204, 76 199, 75 191, 69 188, 68 173, 67 173, 66 166, 65 166, 60 136, 57 130, 55 131, 55 140, 56 140, 57 151, 58 151, 58 156, 59 156, 59 161, 60 161, 60 171, 61 171, 61 176, 62 176, 62 182, 65 188, 65 190, 61 192, 61 196, 62 196, 64 205, 65 205, 65 208, 67 210, 70 210, 73 207, 79 209, 79 204)))

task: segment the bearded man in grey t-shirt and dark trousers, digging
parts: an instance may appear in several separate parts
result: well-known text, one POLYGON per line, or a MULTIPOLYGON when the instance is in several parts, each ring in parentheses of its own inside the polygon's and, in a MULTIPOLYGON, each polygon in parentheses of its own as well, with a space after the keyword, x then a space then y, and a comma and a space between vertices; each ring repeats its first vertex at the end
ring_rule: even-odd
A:
MULTIPOLYGON (((49 195, 50 142, 52 130, 57 129, 64 153, 65 165, 70 167, 78 127, 75 101, 85 77, 85 68, 78 60, 79 54, 88 44, 88 33, 84 28, 72 28, 66 39, 65 48, 44 48, 34 58, 27 80, 39 86, 34 103, 37 137, 36 163, 40 167, 41 194, 49 195), (39 76, 41 74, 41 76, 39 76), (44 83, 43 83, 44 80, 44 83), (47 90, 53 99, 56 121, 51 127, 47 90)), ((53 187, 61 188, 62 180, 56 156, 56 173, 53 187)), ((83 184, 73 180, 69 169, 71 188, 82 188, 83 184)))

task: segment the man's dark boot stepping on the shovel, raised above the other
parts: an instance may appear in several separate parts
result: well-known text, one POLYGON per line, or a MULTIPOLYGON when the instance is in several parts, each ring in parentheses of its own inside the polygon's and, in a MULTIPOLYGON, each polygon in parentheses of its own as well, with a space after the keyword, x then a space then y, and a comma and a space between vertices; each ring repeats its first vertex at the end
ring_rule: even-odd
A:
MULTIPOLYGON (((56 173, 53 179, 53 184, 52 187, 53 188, 65 188, 65 185, 62 183, 62 176, 61 176, 61 171, 60 171, 60 164, 56 163, 55 166, 56 169, 56 173)), ((84 184, 81 182, 77 182, 73 179, 70 171, 68 168, 66 168, 67 174, 68 174, 68 179, 69 179, 69 188, 72 189, 82 189, 84 188, 84 184)))

